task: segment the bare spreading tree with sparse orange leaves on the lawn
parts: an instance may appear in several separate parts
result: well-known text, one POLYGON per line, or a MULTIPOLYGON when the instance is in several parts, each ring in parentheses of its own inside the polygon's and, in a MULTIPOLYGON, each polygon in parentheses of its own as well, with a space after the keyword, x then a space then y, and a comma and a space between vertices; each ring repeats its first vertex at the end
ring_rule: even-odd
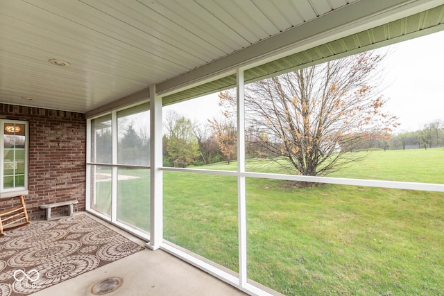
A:
MULTIPOLYGON (((246 85, 246 125, 262 130, 260 143, 279 164, 302 175, 337 171, 357 160, 351 151, 397 126, 378 92, 383 58, 370 51, 246 85)), ((219 97, 234 103, 230 92, 219 97)))

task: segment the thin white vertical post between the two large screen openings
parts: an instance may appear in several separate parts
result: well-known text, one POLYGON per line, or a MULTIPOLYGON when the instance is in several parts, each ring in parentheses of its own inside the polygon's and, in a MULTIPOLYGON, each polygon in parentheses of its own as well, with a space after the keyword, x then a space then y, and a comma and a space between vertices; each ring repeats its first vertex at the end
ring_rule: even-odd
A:
POLYGON ((237 209, 239 218, 239 285, 247 284, 247 225, 245 189, 244 70, 237 69, 237 209))

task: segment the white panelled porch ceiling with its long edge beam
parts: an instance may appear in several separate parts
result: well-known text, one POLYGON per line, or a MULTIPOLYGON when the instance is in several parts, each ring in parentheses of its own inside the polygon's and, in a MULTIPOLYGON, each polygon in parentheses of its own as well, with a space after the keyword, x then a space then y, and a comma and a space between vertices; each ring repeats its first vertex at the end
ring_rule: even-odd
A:
POLYGON ((335 32, 363 30, 443 3, 3 0, 0 103, 86 113, 152 84, 162 92, 180 89, 224 67, 266 62, 284 53, 279 49, 303 49, 304 40, 311 40, 305 46, 325 43, 341 37, 335 32), (51 64, 51 58, 70 66, 51 64))

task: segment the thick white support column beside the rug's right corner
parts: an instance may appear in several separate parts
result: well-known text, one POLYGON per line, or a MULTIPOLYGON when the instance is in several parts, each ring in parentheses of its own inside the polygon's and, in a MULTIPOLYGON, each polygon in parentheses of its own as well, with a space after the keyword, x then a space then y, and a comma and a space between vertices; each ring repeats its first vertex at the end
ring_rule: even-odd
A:
POLYGON ((146 247, 157 250, 163 241, 163 180, 162 171, 162 97, 155 85, 150 86, 150 149, 151 149, 151 234, 146 247))

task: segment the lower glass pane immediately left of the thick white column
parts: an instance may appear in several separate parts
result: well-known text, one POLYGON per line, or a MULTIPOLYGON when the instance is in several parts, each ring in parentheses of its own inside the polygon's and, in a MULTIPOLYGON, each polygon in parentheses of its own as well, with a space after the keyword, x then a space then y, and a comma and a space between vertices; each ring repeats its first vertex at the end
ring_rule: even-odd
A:
POLYGON ((150 232, 150 170, 119 168, 117 220, 150 232))

